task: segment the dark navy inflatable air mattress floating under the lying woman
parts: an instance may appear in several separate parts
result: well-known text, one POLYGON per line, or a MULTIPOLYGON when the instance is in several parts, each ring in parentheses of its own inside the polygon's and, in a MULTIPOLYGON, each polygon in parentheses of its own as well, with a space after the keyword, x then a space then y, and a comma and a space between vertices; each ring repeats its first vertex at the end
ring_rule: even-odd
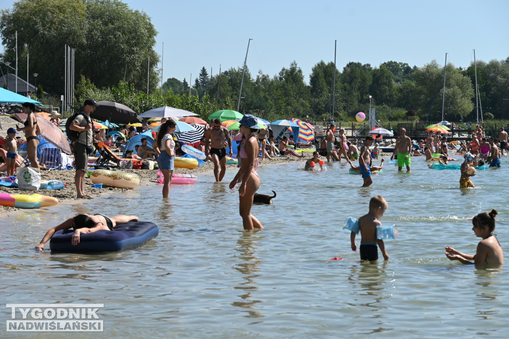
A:
POLYGON ((141 246, 150 239, 157 237, 159 229, 153 222, 129 221, 128 223, 118 225, 113 231, 101 230, 82 234, 79 237, 79 244, 75 246, 71 244, 73 233, 73 230, 55 232, 49 242, 51 252, 90 253, 122 251, 141 246))

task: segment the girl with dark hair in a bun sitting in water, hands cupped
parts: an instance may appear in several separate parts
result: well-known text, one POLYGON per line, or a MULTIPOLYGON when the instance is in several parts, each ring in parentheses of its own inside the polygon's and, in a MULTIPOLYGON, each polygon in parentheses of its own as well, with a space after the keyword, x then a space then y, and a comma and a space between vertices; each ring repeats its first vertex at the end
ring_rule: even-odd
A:
POLYGON ((495 230, 495 216, 497 214, 497 210, 493 209, 490 213, 479 213, 473 217, 472 231, 474 231, 476 237, 483 238, 483 240, 477 244, 475 255, 467 255, 447 246, 445 247, 445 256, 449 258, 449 260, 458 260, 463 264, 503 265, 504 253, 502 252, 500 243, 493 234, 495 230))

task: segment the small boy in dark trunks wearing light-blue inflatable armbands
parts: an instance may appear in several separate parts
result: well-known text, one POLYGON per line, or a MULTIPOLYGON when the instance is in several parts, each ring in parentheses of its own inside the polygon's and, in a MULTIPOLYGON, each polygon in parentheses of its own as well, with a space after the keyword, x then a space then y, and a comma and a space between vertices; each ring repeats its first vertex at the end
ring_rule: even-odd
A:
MULTIPOLYGON (((370 211, 359 218, 360 229, 360 260, 369 260, 374 263, 378 260, 378 247, 382 251, 383 259, 389 260, 389 255, 385 250, 382 239, 377 239, 377 226, 381 226, 380 219, 387 209, 387 202, 381 195, 375 195, 370 200, 370 211)), ((355 232, 350 233, 350 242, 352 250, 357 252, 355 243, 355 232)))

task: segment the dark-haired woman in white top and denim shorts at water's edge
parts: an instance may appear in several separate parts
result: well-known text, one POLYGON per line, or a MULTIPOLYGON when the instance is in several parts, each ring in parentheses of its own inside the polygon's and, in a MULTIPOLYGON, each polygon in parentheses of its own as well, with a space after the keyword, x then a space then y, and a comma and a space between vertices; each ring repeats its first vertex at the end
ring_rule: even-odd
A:
POLYGON ((169 185, 172 184, 174 163, 175 163, 175 141, 173 140, 172 133, 175 133, 177 124, 172 119, 167 120, 161 125, 159 134, 157 134, 154 149, 159 149, 161 154, 157 159, 159 170, 164 176, 164 184, 162 187, 162 197, 169 196, 169 185))

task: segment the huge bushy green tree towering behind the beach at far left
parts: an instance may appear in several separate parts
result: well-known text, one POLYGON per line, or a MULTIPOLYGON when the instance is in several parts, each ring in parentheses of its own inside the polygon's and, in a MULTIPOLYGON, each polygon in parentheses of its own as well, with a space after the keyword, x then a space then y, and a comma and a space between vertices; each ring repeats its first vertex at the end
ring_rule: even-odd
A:
MULTIPOLYGON (((157 34, 146 13, 133 11, 114 0, 20 0, 0 12, 0 33, 5 58, 15 59, 18 48, 30 51, 30 70, 49 92, 61 91, 64 80, 64 46, 75 48, 75 74, 98 87, 116 86, 121 80, 147 91, 150 57, 150 89, 159 83, 159 56, 153 50, 157 34)), ((26 72, 20 63, 18 72, 26 72)))

